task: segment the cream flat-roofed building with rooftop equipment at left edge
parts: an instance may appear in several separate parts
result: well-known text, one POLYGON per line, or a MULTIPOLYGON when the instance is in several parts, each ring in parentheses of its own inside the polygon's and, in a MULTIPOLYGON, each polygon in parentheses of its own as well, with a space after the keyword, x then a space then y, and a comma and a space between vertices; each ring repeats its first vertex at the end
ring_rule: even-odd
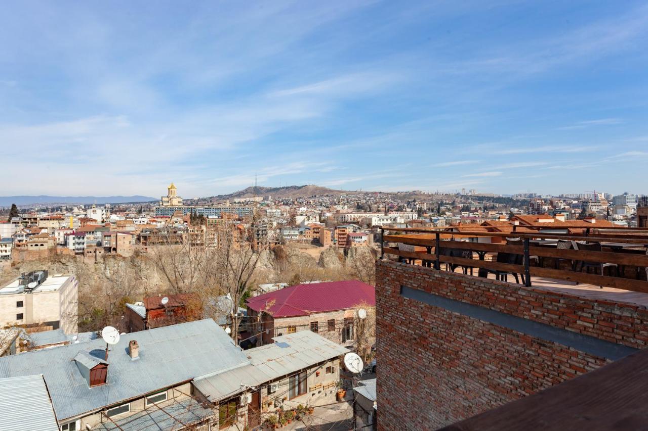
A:
POLYGON ((78 282, 75 276, 33 271, 0 288, 0 325, 62 328, 77 332, 78 282))

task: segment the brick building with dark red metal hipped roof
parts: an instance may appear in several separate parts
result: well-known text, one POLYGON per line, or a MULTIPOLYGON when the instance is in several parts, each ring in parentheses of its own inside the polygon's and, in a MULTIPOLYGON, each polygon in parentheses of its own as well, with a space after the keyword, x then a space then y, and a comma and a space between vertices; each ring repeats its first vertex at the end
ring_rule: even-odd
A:
MULTIPOLYGON (((343 346, 354 346, 358 308, 373 309, 375 288, 349 280, 305 283, 249 298, 248 316, 260 344, 273 337, 313 331, 343 346)), ((369 313, 371 314, 371 313, 369 313)))

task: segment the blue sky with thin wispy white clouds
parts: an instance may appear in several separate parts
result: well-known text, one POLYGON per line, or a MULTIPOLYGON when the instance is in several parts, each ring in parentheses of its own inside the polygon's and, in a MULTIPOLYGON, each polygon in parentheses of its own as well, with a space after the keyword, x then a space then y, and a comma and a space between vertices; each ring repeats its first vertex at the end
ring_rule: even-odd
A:
POLYGON ((0 195, 648 193, 639 1, 0 5, 0 195))

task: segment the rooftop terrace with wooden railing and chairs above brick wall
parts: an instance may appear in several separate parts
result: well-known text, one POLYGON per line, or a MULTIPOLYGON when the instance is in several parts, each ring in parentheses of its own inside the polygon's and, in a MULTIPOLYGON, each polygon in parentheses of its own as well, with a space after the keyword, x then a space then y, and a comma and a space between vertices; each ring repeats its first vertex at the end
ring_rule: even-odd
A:
POLYGON ((591 298, 648 305, 648 231, 495 232, 495 227, 384 228, 381 257, 591 298), (636 294, 632 294, 636 293, 636 294), (618 298, 616 298, 618 299, 618 298))

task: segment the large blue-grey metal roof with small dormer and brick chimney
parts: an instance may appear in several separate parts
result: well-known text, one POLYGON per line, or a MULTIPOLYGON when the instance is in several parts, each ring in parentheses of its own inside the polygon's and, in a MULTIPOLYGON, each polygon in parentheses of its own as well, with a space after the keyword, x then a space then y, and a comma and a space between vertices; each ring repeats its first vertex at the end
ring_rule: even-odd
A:
POLYGON ((93 388, 73 360, 80 351, 104 351, 103 340, 0 358, 0 377, 43 374, 59 420, 117 404, 178 382, 245 364, 248 359, 213 320, 198 320, 122 335, 108 355, 108 382, 93 388), (139 359, 128 356, 137 340, 139 359))

